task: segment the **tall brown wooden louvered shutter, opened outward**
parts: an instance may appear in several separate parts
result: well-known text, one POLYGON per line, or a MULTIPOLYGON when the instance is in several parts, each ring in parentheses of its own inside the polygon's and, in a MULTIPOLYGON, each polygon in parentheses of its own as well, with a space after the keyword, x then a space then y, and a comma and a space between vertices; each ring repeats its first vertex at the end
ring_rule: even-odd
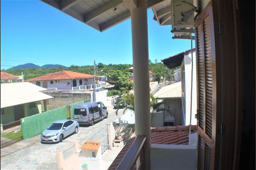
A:
POLYGON ((216 148, 216 62, 212 2, 195 22, 198 89, 197 169, 214 169, 216 148))

